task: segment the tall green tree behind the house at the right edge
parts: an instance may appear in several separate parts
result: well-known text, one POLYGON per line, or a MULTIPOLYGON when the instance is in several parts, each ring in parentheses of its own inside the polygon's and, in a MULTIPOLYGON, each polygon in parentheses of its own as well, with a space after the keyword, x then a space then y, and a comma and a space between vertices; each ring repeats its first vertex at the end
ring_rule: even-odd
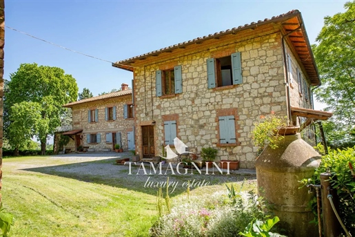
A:
POLYGON ((327 125, 345 134, 342 142, 349 142, 354 139, 350 131, 355 121, 355 1, 345 3, 345 9, 324 18, 325 25, 312 48, 323 83, 315 91, 316 98, 334 113, 327 125))

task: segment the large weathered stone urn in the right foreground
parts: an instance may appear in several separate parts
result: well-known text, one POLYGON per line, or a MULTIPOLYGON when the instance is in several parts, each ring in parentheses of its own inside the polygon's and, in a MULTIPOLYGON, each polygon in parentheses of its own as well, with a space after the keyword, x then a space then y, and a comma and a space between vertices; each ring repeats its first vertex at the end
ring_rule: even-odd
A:
POLYGON ((320 158, 296 133, 286 135, 277 149, 267 147, 256 160, 259 195, 272 205, 281 220, 278 225, 289 231, 289 237, 318 236, 316 225, 310 224, 314 214, 307 207, 313 195, 300 189, 298 181, 312 177, 320 158))

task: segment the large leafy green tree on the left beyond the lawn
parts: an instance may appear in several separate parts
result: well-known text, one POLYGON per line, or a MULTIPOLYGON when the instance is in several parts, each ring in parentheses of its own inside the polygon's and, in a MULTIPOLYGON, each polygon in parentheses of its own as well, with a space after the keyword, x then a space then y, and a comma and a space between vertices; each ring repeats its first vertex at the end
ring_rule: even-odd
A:
MULTIPOLYGON (((20 119, 21 116, 18 117, 19 114, 32 115, 31 111, 25 109, 26 106, 36 108, 36 113, 40 115, 39 119, 36 117, 35 122, 31 120, 33 123, 29 122, 30 128, 25 130, 26 134, 21 134, 28 138, 34 133, 41 142, 41 153, 44 155, 48 135, 53 134, 55 129, 61 126, 61 117, 65 111, 63 104, 77 100, 77 82, 61 68, 37 64, 21 64, 17 72, 10 74, 10 79, 6 94, 6 106, 10 108, 10 126, 21 127, 20 124, 24 120, 20 119)), ((9 130, 16 131, 12 135, 21 140, 18 129, 9 130)), ((12 135, 9 134, 8 138, 12 135)))

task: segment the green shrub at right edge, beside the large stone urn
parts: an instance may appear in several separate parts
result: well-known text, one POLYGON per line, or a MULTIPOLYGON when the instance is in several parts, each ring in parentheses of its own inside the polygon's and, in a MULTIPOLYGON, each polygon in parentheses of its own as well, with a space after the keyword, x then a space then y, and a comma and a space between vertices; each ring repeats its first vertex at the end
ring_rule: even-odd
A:
MULTIPOLYGON (((304 179, 301 182, 306 184, 320 184, 320 174, 329 172, 334 174, 330 178, 330 184, 339 197, 339 216, 343 220, 348 231, 355 233, 355 178, 349 168, 349 162, 355 165, 355 147, 348 149, 338 149, 329 151, 328 155, 323 155, 321 164, 314 171, 311 179, 304 179)), ((353 170, 354 171, 354 170, 353 170)), ((312 200, 316 202, 316 200, 312 200)), ((316 214, 316 205, 314 207, 316 214)))

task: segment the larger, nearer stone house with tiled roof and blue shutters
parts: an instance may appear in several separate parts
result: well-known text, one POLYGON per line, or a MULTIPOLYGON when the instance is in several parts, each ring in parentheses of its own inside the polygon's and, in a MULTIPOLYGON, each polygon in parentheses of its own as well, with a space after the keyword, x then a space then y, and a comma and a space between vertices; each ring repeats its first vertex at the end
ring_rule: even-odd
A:
POLYGON ((318 71, 301 12, 294 10, 112 64, 133 73, 136 154, 163 155, 177 137, 199 155, 254 168, 254 122, 272 111, 294 125, 312 109, 318 71))

